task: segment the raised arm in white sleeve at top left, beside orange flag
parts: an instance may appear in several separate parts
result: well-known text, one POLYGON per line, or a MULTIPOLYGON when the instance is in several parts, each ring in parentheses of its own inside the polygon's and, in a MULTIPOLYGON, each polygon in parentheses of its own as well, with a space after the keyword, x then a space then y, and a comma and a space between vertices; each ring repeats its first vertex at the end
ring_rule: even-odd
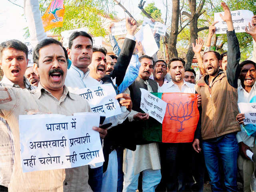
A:
POLYGON ((47 38, 39 10, 39 3, 35 0, 24 0, 24 12, 30 33, 30 43, 33 48, 47 38))

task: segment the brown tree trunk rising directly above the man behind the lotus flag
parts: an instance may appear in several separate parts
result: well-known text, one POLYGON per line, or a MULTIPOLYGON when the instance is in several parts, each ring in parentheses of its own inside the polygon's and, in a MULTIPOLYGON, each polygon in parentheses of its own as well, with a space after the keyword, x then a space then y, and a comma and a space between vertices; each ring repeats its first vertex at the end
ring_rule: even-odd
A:
POLYGON ((170 36, 168 38, 169 59, 178 57, 176 44, 177 44, 177 37, 178 37, 179 14, 180 14, 180 0, 172 0, 172 24, 171 24, 170 36))

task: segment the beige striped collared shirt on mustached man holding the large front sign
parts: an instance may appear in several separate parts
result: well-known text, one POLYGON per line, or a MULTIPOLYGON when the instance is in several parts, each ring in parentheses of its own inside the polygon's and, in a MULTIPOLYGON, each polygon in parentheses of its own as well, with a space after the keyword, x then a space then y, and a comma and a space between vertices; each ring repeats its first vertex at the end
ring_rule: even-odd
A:
POLYGON ((45 90, 39 83, 35 90, 0 87, 0 117, 5 118, 14 138, 14 166, 9 184, 12 192, 74 192, 92 191, 88 185, 88 166, 69 169, 22 172, 20 158, 19 115, 28 112, 62 114, 91 112, 88 102, 71 94, 66 86, 60 100, 45 90))

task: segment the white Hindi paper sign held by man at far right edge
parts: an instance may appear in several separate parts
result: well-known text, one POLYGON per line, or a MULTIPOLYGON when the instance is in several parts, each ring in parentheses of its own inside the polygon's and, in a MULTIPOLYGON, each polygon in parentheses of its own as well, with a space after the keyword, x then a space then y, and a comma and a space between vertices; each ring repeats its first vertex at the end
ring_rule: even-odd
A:
POLYGON ((256 125, 256 103, 238 103, 241 113, 244 113, 244 124, 256 125))

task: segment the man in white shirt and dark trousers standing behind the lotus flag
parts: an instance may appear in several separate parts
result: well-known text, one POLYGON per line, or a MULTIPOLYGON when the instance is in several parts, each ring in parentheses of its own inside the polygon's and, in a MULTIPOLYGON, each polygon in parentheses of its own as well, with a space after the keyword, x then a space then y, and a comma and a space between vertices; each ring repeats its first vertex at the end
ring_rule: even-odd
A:
MULTIPOLYGON (((182 58, 172 58, 168 66, 172 80, 160 87, 158 92, 195 94, 195 85, 184 80, 185 61, 182 58)), ((186 101, 182 102, 185 103, 186 101)), ((192 130, 192 132, 192 134, 194 134, 194 130, 192 130)), ((161 154, 162 180, 158 186, 158 191, 165 191, 166 189, 167 191, 185 190, 185 184, 188 182, 188 178, 192 177, 192 167, 189 166, 190 164, 183 154, 191 156, 191 143, 180 143, 176 140, 176 143, 161 143, 159 148, 161 154), (182 173, 181 188, 178 188, 179 173, 182 173)))

